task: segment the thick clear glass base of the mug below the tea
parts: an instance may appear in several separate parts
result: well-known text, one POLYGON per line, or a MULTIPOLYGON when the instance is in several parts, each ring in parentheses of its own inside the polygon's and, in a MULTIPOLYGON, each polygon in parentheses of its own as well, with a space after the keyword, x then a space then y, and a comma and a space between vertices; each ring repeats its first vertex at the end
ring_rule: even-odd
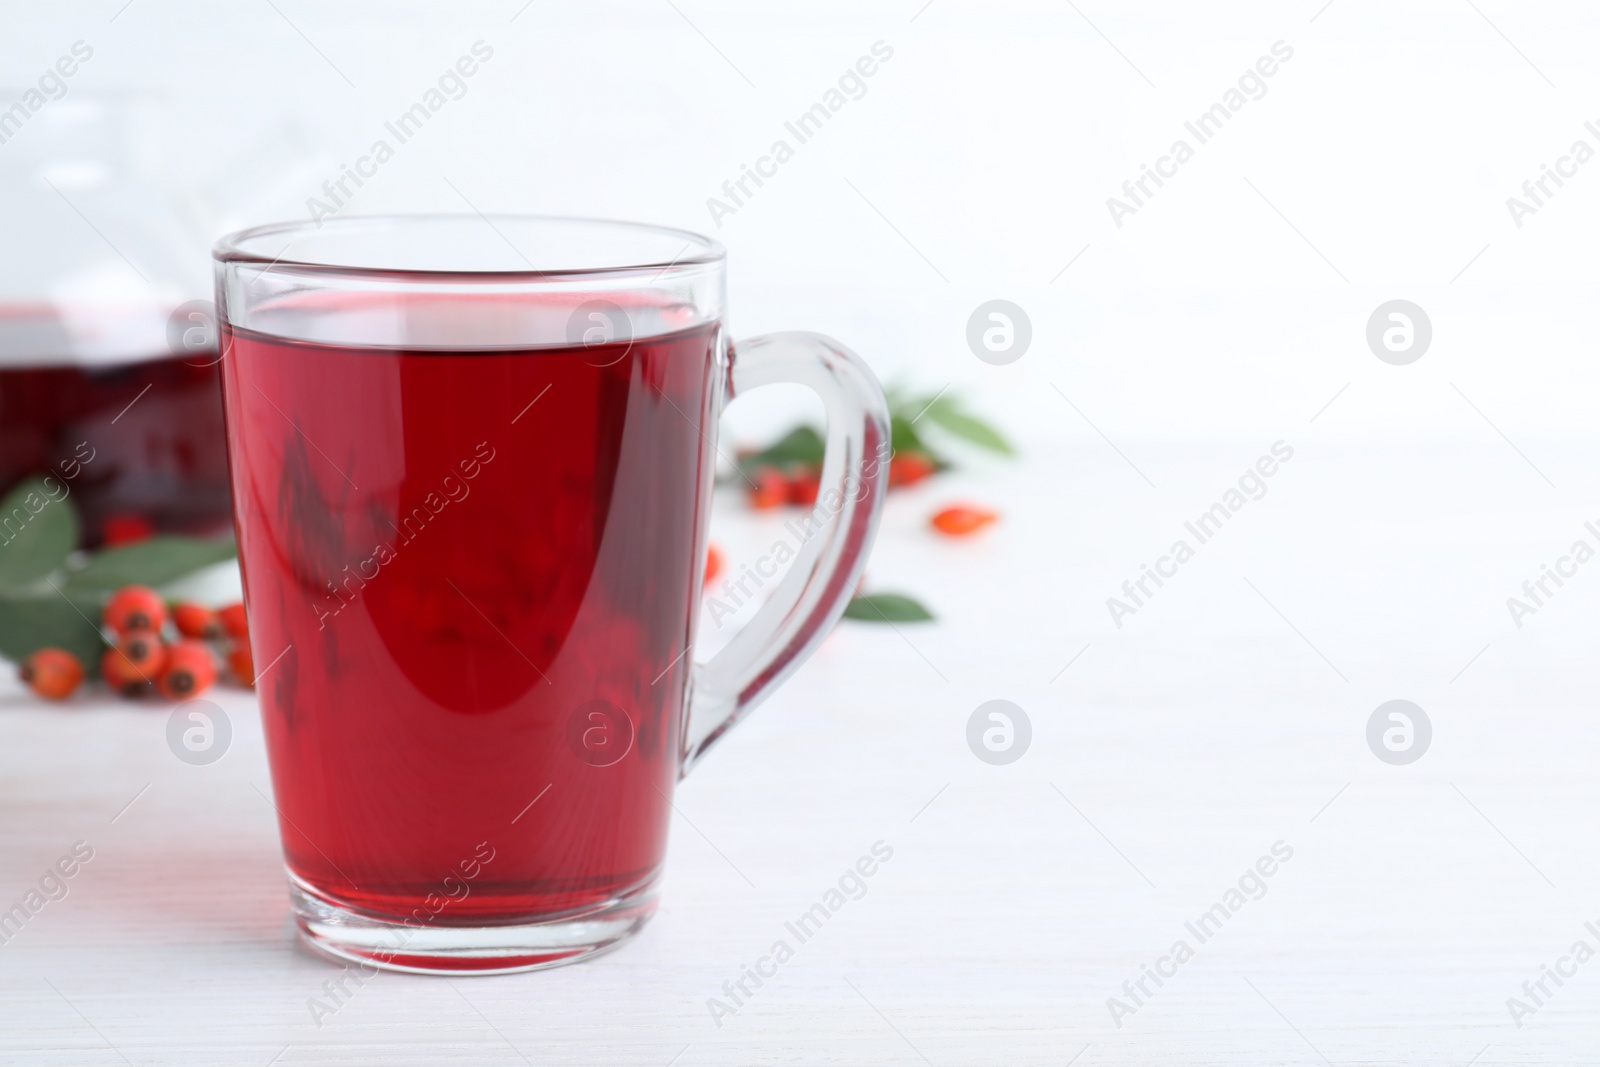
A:
POLYGON ((581 915, 501 926, 418 926, 352 910, 290 877, 301 937, 320 955, 406 974, 515 974, 619 947, 656 910, 654 878, 581 915))

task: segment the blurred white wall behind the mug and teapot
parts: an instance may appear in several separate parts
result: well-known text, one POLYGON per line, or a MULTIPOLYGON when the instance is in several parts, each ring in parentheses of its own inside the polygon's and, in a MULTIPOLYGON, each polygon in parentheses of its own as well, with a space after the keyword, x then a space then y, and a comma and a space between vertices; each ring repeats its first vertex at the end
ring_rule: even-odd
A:
POLYGON ((832 333, 885 379, 981 387, 1027 438, 1098 440, 1043 387, 1051 378, 1091 395, 1080 406, 1114 440, 1275 432, 1346 381, 1317 434, 1483 438, 1443 378, 1493 395, 1507 434, 1579 430, 1597 371, 1574 344, 1573 296, 1597 267, 1573 235, 1592 230, 1595 197, 1579 173, 1520 229, 1506 198, 1594 117, 1581 101, 1597 16, 1485 13, 1347 0, 22 8, 0 42, 16 90, 77 42, 93 59, 3 146, 8 195, 22 197, 8 288, 42 282, 29 264, 43 232, 101 245, 107 293, 136 267, 174 296, 208 296, 213 237, 307 216, 323 182, 394 141, 384 123, 482 40, 493 59, 346 211, 475 206, 709 232, 731 251, 736 333, 832 333), (1520 30, 1526 54, 1499 30, 1520 30), (1280 40, 1293 59, 1266 94, 1118 227, 1107 198, 1194 141, 1182 123, 1280 40), (784 123, 875 42, 893 59, 864 96, 714 219, 723 182, 794 141, 784 123), (138 136, 120 120, 59 130, 106 91, 138 94, 138 136), (58 197, 38 181, 48 134, 78 138, 107 171, 62 174, 58 197), (126 182, 128 198, 101 181, 126 182), (150 234, 128 246, 114 229, 134 186, 150 234), (1358 344, 1368 312, 1397 296, 1437 331, 1435 358, 1403 376, 1358 344), (966 317, 992 298, 1030 315, 1032 358, 971 358, 966 317))

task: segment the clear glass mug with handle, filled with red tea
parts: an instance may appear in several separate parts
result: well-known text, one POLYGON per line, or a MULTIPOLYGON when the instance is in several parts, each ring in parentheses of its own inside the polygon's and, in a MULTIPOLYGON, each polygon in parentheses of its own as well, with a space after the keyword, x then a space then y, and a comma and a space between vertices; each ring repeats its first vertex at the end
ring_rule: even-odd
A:
POLYGON ((723 248, 555 218, 266 226, 216 246, 250 640, 304 937, 507 973, 650 918, 672 789, 827 635, 861 574, 888 411, 843 346, 731 346, 723 248), (691 654, 717 421, 827 411, 771 600, 691 654))

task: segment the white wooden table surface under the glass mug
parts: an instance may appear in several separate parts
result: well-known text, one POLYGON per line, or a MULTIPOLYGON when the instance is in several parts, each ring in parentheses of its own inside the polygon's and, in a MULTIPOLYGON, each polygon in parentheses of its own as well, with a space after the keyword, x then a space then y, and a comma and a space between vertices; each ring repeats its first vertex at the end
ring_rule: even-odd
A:
MULTIPOLYGON (((1522 442, 1552 491, 1498 438, 1298 440, 1112 625, 1106 598, 1270 443, 1123 442, 1150 488, 1085 437, 896 496, 872 584, 942 621, 837 632, 683 784, 637 941, 523 976, 382 974, 320 1024, 339 971, 286 918, 253 699, 218 697, 235 739, 197 768, 158 705, 5 697, 0 907, 75 841, 94 856, 0 945, 0 1062, 1594 1062, 1600 961, 1520 1027, 1507 998, 1600 949, 1600 566, 1522 629, 1504 603, 1589 536, 1592 445, 1522 442), (1003 525, 925 534, 957 496, 1003 525), (995 697, 1034 726, 1008 766, 965 739, 995 697), (1434 726, 1410 766, 1365 741, 1395 697, 1434 726), (707 1000, 875 841, 893 859, 866 896, 718 1025, 707 1000), (1277 841, 1266 894, 1200 944, 1186 923, 1277 841), (1117 1025, 1107 998, 1131 1005, 1179 939, 1194 957, 1117 1025)), ((720 512, 717 537, 738 561, 778 522, 720 512)))

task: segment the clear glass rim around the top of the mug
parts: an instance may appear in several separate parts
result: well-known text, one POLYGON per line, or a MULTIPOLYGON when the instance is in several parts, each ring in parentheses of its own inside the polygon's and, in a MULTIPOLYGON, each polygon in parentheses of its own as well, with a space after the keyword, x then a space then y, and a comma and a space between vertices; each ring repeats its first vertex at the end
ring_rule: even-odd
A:
MULTIPOLYGON (((291 242, 293 245, 293 242, 291 242)), ((286 250, 285 250, 286 251, 286 250)), ((598 216, 573 216, 573 214, 522 214, 522 213, 491 213, 485 214, 464 213, 464 211, 419 211, 419 213, 390 213, 390 214, 350 214, 336 219, 294 219, 283 222, 267 222, 262 226, 251 226, 230 234, 222 235, 211 246, 211 258, 219 266, 227 264, 264 264, 267 270, 285 267, 294 272, 307 274, 325 274, 325 275, 342 275, 342 277, 379 277, 379 278, 470 278, 470 280, 509 280, 509 278, 560 278, 560 277, 595 277, 595 275, 616 275, 616 274, 632 274, 640 270, 677 270, 682 267, 696 266, 712 266, 722 264, 728 258, 728 250, 722 242, 706 237, 704 234, 696 234, 693 230, 678 229, 674 226, 658 226, 653 222, 634 222, 629 219, 606 219, 598 216), (490 229, 496 230, 507 245, 512 246, 518 256, 523 256, 509 237, 496 226, 496 221, 526 226, 526 224, 555 224, 555 226, 579 226, 594 229, 613 229, 632 232, 640 237, 670 237, 683 242, 685 248, 680 254, 672 259, 661 259, 659 256, 622 256, 619 262, 606 262, 603 266, 571 266, 571 267, 534 267, 526 269, 491 269, 491 270, 472 270, 472 269, 429 269, 429 267, 394 267, 394 266, 370 266, 362 262, 341 262, 338 256, 288 256, 277 254, 269 256, 264 251, 254 251, 248 248, 251 242, 264 237, 310 232, 310 234, 326 234, 333 230, 352 230, 352 229, 373 229, 373 227, 402 227, 402 226, 418 226, 418 224, 448 224, 448 222, 474 222, 482 221, 490 229)), ((358 258, 350 258, 358 259, 358 258)), ((523 256, 526 261, 526 256, 523 256)))

